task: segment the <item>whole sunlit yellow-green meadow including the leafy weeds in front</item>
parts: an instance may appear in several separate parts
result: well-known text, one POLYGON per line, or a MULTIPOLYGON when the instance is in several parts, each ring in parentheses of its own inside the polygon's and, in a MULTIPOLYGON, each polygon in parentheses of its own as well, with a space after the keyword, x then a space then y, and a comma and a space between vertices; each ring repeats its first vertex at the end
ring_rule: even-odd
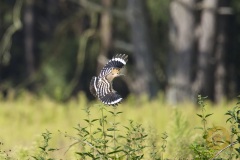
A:
POLYGON ((238 159, 239 102, 197 102, 10 96, 0 101, 0 159, 238 159))

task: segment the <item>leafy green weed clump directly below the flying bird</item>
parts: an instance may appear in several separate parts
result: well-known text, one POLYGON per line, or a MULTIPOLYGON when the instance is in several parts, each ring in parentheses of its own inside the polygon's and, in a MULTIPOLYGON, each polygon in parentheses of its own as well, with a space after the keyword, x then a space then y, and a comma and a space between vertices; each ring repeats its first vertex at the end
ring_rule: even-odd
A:
POLYGON ((79 155, 80 159, 143 159, 147 134, 141 124, 130 120, 128 126, 121 126, 116 117, 122 112, 118 112, 117 108, 108 110, 101 105, 101 117, 95 119, 91 118, 89 108, 85 111, 86 126, 79 124, 75 128, 77 136, 65 134, 74 140, 69 149, 79 145, 75 154, 79 155), (113 121, 109 121, 108 116, 111 116, 113 121), (120 128, 125 129, 125 135, 119 133, 120 128))

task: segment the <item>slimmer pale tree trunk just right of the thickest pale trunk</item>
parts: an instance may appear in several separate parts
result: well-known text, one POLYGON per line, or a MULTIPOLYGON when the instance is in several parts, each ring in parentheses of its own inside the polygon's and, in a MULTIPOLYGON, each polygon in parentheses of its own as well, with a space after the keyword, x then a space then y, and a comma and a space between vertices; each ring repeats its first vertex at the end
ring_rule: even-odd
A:
POLYGON ((214 45, 216 33, 216 9, 218 0, 204 0, 201 14, 199 56, 193 91, 213 99, 214 93, 214 45))

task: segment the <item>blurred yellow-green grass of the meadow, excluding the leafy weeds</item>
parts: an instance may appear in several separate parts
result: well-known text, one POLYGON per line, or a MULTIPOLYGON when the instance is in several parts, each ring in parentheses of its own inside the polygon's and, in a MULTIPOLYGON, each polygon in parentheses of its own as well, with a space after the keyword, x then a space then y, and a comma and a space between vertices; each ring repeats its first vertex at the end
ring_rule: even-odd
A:
MULTIPOLYGON (((77 135, 79 132, 74 127, 81 124, 89 129, 84 120, 87 118, 86 107, 90 107, 91 119, 99 119, 102 117, 99 104, 99 102, 88 103, 84 94, 67 103, 58 103, 48 97, 37 98, 28 93, 23 93, 18 98, 9 96, 7 99, 2 99, 0 101, 0 157, 7 157, 8 154, 9 157, 21 159, 26 155, 40 155, 42 152, 39 146, 45 143, 42 134, 49 131, 51 133, 49 147, 57 150, 49 152, 48 156, 56 159, 77 159, 79 155, 75 153, 79 152, 79 144, 70 147, 74 143, 74 138, 79 138, 77 135)), ((213 105, 205 101, 205 104, 207 113, 213 113, 207 118, 207 128, 213 126, 230 128, 231 124, 226 123, 225 113, 231 110, 236 102, 213 105)), ((106 107, 106 109, 112 113, 115 112, 112 107, 106 107)), ((115 118, 109 112, 104 113, 107 116, 105 129, 113 122, 119 122, 119 131, 116 134, 127 135, 128 130, 124 126, 129 128, 129 120, 134 124, 141 124, 151 144, 151 147, 144 149, 145 158, 143 159, 151 155, 155 157, 159 155, 162 159, 192 158, 194 153, 190 146, 203 134, 201 130, 195 129, 202 125, 199 116, 196 115, 201 113, 201 108, 197 107, 197 104, 184 103, 172 106, 164 102, 163 96, 151 102, 144 98, 137 102, 134 97, 129 97, 116 108, 116 111, 123 113, 115 118), (146 152, 151 154, 147 155, 146 152)), ((94 122, 92 131, 98 127, 94 122)), ((133 127, 134 129, 136 128, 133 127)), ((101 134, 96 135, 96 137, 100 136, 101 134)))

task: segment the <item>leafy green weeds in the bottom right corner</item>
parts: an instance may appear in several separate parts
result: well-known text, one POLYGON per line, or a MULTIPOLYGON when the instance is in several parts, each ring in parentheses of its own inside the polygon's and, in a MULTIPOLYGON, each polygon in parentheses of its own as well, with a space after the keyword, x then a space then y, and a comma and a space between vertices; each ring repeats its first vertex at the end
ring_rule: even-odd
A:
POLYGON ((208 127, 207 118, 212 116, 213 113, 206 113, 204 100, 207 97, 198 96, 198 104, 201 108, 201 113, 197 114, 201 118, 202 127, 197 127, 202 130, 202 139, 200 141, 195 141, 191 145, 193 151, 194 159, 239 159, 240 158, 240 101, 232 109, 227 111, 225 115, 228 116, 226 123, 230 123, 230 139, 228 136, 228 131, 223 127, 208 127), (228 145, 226 145, 228 144, 228 145), (234 148, 234 145, 238 144, 234 148), (225 147, 226 145, 226 147, 225 147), (221 153, 226 152, 226 154, 221 153))

